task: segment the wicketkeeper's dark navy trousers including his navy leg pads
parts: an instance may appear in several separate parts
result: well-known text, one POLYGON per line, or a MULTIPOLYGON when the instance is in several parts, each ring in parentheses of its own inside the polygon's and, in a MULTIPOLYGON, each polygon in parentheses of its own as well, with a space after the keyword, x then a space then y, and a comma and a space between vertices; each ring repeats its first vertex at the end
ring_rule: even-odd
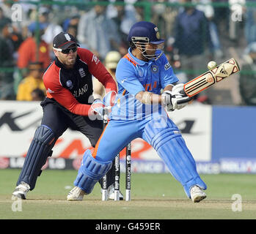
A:
MULTIPOLYGON (((29 184, 30 190, 34 189, 37 176, 40 176, 41 168, 48 156, 52 154, 52 148, 56 140, 70 128, 81 132, 88 137, 92 147, 95 147, 101 133, 103 132, 102 120, 90 120, 87 116, 78 116, 59 105, 53 99, 45 98, 41 102, 43 107, 43 118, 41 126, 37 128, 28 154, 18 178, 17 185, 21 181, 29 184)), ((114 184, 114 166, 107 173, 107 186, 114 184)), ((101 181, 100 185, 102 184, 101 181)))

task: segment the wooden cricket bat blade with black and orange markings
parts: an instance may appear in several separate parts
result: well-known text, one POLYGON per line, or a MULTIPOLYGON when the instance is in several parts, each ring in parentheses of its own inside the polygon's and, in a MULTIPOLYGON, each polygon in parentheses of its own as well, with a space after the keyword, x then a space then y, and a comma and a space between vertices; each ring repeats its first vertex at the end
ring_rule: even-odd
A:
POLYGON ((237 61, 235 61, 235 59, 229 59, 184 84, 184 92, 188 97, 193 97, 206 88, 213 86, 224 78, 227 78, 239 71, 240 68, 237 61))

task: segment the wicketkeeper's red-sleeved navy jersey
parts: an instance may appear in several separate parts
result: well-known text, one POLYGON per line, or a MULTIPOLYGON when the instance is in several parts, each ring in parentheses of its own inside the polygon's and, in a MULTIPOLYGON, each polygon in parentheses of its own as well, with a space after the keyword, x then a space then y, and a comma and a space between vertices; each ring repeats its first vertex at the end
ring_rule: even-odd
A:
POLYGON ((88 116, 92 97, 92 75, 105 86, 106 91, 116 91, 114 78, 89 50, 78 48, 73 69, 66 69, 56 58, 43 75, 47 97, 80 116, 88 116))

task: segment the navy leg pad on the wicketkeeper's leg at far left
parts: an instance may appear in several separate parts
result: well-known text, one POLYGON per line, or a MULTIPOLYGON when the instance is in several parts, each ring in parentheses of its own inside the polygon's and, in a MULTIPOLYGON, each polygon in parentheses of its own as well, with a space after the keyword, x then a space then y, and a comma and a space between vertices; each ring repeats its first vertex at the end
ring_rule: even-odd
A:
POLYGON ((24 181, 26 184, 29 184, 30 190, 34 189, 41 168, 45 164, 48 156, 52 154, 51 148, 54 147, 54 143, 54 132, 50 128, 43 125, 37 128, 32 143, 29 146, 29 151, 26 154, 17 184, 24 181))

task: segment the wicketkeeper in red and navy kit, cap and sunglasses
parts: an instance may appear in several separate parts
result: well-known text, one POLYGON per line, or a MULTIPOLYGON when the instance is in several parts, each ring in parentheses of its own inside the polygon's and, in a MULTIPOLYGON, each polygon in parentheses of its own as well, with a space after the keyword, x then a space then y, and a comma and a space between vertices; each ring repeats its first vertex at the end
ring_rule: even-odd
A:
MULTIPOLYGON (((71 34, 61 32, 54 37, 56 59, 43 75, 47 90, 47 97, 41 102, 43 119, 34 133, 17 186, 12 193, 21 199, 26 199, 27 192, 34 189, 37 176, 40 176, 41 168, 48 156, 51 156, 56 140, 68 127, 87 136, 93 147, 103 131, 103 121, 96 118, 94 112, 94 109, 103 106, 101 102, 93 102, 92 75, 106 88, 105 99, 109 98, 109 105, 116 94, 117 85, 92 52, 78 47, 71 34)), ((109 170, 107 178, 107 186, 114 192, 114 168, 109 170)))

